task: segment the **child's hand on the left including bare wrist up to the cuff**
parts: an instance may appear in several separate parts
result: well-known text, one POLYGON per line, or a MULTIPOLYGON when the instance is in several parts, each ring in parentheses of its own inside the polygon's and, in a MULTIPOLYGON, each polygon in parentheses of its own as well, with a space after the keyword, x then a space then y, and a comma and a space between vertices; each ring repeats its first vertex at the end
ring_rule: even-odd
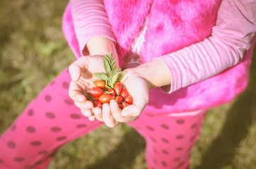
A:
MULTIPOLYGON (((112 39, 107 37, 93 37, 88 40, 83 51, 88 52, 91 56, 82 56, 69 66, 69 73, 71 75, 71 83, 69 86, 69 96, 74 100, 74 103, 81 109, 81 113, 89 118, 95 120, 92 112, 93 102, 86 99, 82 93, 86 94, 87 89, 95 87, 93 80, 93 73, 105 72, 103 67, 103 55, 113 54, 116 66, 119 65, 115 43, 112 39)), ((86 52, 83 54, 86 54, 86 52)))

